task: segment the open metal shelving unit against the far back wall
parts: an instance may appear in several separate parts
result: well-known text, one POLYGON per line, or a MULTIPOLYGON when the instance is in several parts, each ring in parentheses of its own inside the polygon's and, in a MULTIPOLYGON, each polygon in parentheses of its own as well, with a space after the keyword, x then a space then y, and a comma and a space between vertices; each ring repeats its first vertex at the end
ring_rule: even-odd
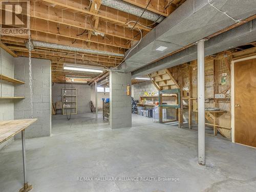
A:
POLYGON ((77 114, 77 89, 62 88, 62 114, 77 114))

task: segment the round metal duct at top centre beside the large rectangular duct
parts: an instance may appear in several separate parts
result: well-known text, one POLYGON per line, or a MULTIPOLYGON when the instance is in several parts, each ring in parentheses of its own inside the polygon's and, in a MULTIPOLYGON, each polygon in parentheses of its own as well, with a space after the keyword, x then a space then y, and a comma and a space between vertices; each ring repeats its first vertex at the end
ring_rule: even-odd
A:
MULTIPOLYGON (((143 8, 137 7, 135 5, 126 3, 121 0, 102 0, 101 5, 111 7, 111 8, 117 9, 119 11, 123 11, 125 13, 136 15, 138 17, 144 11, 143 8)), ((154 13, 154 12, 148 11, 148 10, 146 10, 141 17, 148 19, 148 20, 152 20, 153 22, 157 22, 157 23, 160 23, 165 18, 164 16, 161 16, 157 13, 154 13)))

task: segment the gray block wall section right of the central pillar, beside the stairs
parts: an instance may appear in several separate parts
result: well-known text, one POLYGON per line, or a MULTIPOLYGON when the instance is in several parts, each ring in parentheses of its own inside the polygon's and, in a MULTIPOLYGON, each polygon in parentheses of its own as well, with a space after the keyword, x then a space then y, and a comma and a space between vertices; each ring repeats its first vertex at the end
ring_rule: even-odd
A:
POLYGON ((132 97, 134 98, 134 100, 139 100, 140 96, 143 96, 145 91, 148 93, 151 93, 153 91, 155 93, 158 93, 157 88, 151 81, 145 81, 132 85, 132 97))

